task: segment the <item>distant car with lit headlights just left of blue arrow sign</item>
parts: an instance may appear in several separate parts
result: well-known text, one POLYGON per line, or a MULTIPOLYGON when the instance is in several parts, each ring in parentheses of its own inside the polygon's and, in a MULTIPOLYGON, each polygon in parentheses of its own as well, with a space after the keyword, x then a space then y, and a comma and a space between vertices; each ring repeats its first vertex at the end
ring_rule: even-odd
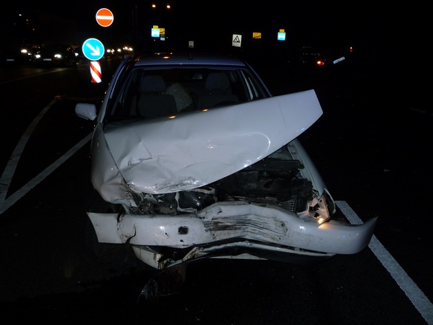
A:
POLYGON ((78 52, 76 47, 67 44, 42 45, 34 54, 36 64, 76 65, 78 52))

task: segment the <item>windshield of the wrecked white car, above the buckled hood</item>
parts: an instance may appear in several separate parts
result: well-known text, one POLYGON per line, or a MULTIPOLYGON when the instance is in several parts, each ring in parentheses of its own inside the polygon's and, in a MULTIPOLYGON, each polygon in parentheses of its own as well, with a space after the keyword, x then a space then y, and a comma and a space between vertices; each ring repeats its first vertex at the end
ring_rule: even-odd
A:
POLYGON ((134 67, 118 82, 106 121, 178 115, 267 97, 245 67, 134 67))

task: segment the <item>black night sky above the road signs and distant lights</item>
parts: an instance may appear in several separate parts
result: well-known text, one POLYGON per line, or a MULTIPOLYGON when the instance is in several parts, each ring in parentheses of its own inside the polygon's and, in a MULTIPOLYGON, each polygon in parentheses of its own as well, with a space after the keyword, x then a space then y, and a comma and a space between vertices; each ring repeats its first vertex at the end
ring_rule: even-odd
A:
MULTIPOLYGON (((140 34, 150 34, 151 26, 157 23, 166 27, 167 36, 181 38, 185 43, 189 40, 230 43, 232 34, 242 34, 243 39, 248 39, 252 38, 252 32, 262 32, 264 41, 274 41, 282 28, 287 32, 287 43, 296 45, 350 42, 410 56, 414 47, 428 41, 431 30, 429 10, 414 1, 401 6, 379 6, 377 1, 370 5, 368 1, 349 4, 347 1, 174 0, 170 1, 170 12, 160 10, 156 16, 150 10, 151 1, 106 0, 72 5, 58 1, 24 2, 24 5, 19 3, 19 9, 52 14, 59 26, 76 25, 78 43, 89 37, 102 38, 107 43, 130 41, 135 5, 140 34), (100 8, 113 12, 113 25, 100 27, 96 23, 95 15, 100 8)), ((8 14, 7 8, 2 11, 8 14)), ((61 30, 56 28, 56 23, 53 25, 54 30, 61 30)))

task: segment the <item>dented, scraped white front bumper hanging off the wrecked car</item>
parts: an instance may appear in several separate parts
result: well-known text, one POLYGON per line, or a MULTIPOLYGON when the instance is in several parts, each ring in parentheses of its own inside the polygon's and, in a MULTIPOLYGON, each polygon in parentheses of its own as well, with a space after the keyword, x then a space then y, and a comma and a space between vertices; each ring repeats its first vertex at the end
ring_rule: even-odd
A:
MULTIPOLYGON (((310 256, 356 254, 370 242, 377 218, 361 225, 338 221, 316 223, 297 214, 269 205, 245 201, 221 202, 197 214, 135 215, 88 212, 100 243, 129 243, 138 258, 162 269, 159 249, 170 247, 188 251, 181 260, 206 255, 240 258, 264 256, 265 251, 310 256), (233 248, 236 247, 234 250, 233 248), (260 254, 254 254, 260 251, 260 254), (245 254, 244 254, 245 253, 245 254), (152 263, 151 263, 152 264, 152 263)), ((279 258, 281 259, 281 258, 279 258)))

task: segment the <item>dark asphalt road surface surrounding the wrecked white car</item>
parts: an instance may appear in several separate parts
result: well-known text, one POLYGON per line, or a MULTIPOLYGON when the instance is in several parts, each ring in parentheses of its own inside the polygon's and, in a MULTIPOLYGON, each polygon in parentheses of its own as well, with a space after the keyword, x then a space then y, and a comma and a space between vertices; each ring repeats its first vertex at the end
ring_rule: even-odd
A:
POLYGON ((335 200, 362 221, 379 216, 370 246, 318 265, 193 262, 181 293, 139 299, 151 271, 101 265, 83 245, 93 125, 74 107, 98 103, 115 66, 101 84, 88 63, 1 68, 3 324, 433 324, 432 116, 365 67, 259 72, 274 95, 315 89, 324 115, 301 141, 335 200))

